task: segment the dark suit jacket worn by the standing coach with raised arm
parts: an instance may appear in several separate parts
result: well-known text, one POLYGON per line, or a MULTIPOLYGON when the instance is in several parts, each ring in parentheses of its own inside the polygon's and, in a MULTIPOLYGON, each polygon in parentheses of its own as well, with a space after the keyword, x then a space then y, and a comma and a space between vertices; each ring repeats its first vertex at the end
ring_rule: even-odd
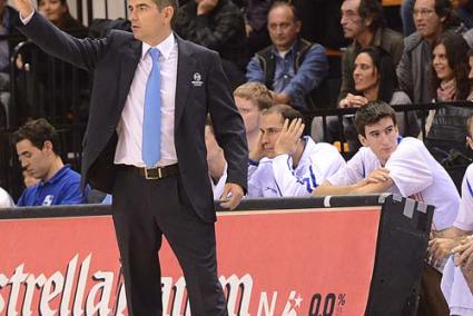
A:
MULTIPOLYGON (((83 139, 82 181, 90 181, 96 188, 110 192, 115 179, 116 129, 141 57, 141 42, 124 31, 111 31, 106 38, 96 40, 76 39, 59 31, 38 13, 20 30, 48 53, 93 71, 89 121, 83 139)), ((214 221, 204 140, 206 115, 210 112, 217 141, 225 151, 227 181, 244 189, 248 159, 245 128, 218 55, 176 38, 175 146, 179 176, 193 209, 204 220, 214 221)))

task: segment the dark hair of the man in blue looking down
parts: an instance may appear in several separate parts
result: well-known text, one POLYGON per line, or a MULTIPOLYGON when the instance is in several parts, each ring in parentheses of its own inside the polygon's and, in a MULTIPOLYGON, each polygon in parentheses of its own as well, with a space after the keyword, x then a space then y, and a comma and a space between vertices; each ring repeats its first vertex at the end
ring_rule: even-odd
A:
POLYGON ((11 142, 13 145, 17 145, 24 139, 31 141, 31 144, 38 149, 42 149, 45 147, 45 142, 49 140, 52 144, 52 150, 55 154, 58 155, 58 152, 60 152, 58 132, 55 127, 43 118, 27 121, 11 136, 11 142))

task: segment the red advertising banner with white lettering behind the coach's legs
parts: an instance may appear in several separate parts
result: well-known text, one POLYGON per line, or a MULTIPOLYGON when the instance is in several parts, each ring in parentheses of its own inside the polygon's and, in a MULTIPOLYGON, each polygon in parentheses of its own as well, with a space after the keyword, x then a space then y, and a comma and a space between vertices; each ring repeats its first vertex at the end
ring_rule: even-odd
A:
MULTIPOLYGON (((381 207, 218 215, 229 315, 363 315, 381 207)), ((127 315, 111 217, 0 220, 0 315, 127 315)), ((164 315, 190 315, 164 243, 164 315)))

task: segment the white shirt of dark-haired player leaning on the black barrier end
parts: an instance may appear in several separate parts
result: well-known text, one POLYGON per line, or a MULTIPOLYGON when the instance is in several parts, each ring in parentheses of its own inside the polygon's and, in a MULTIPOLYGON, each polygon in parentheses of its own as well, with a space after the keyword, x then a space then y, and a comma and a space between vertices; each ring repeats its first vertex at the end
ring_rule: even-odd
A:
MULTIPOLYGON (((371 149, 362 148, 347 162, 347 170, 341 170, 328 178, 328 182, 334 186, 353 185, 381 166, 380 159, 371 149)), ((385 167, 394 181, 390 192, 433 205, 434 229, 442 230, 452 226, 460 206, 460 195, 452 178, 421 140, 403 138, 385 167)))

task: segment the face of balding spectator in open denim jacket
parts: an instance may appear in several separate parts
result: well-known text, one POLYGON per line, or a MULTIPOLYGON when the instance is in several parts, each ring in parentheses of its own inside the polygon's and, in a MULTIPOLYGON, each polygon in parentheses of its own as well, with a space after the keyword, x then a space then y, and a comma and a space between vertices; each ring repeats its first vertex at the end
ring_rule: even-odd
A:
POLYGON ((300 31, 300 21, 295 21, 288 7, 277 7, 268 13, 268 30, 273 45, 278 50, 288 50, 300 31))

